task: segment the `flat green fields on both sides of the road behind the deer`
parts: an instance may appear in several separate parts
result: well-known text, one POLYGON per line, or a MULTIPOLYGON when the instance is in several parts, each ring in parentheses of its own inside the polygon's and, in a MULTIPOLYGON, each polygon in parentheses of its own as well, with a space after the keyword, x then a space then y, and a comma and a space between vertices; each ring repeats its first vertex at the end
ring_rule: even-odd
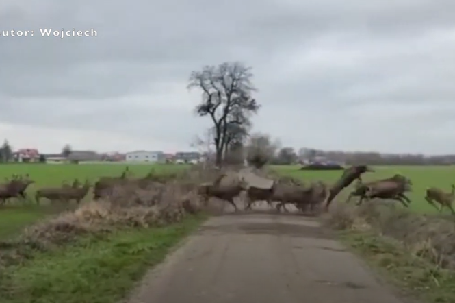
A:
MULTIPOLYGON (((0 180, 10 177, 13 173, 29 173, 30 177, 36 181, 32 184, 27 193, 33 197, 34 191, 43 186, 60 186, 62 181, 71 182, 74 178, 83 181, 86 178, 95 182, 99 177, 105 175, 120 175, 125 169, 125 165, 107 165, 107 164, 90 164, 90 165, 1 165, 0 180)), ((129 165, 130 171, 135 177, 146 175, 151 169, 157 173, 172 173, 181 171, 185 165, 129 165)), ((341 171, 300 171, 298 166, 272 166, 272 169, 283 175, 290 175, 300 178, 304 181, 323 180, 331 183, 339 178, 341 171)), ((455 183, 455 167, 376 167, 375 173, 367 173, 364 180, 376 180, 378 178, 387 178, 394 173, 402 173, 413 181, 413 192, 409 197, 413 201, 411 208, 423 213, 434 213, 436 210, 424 200, 425 190, 428 186, 441 186, 449 191, 450 184, 455 183)), ((349 190, 345 190, 337 198, 338 201, 344 201, 349 190)), ((88 197, 87 199, 90 199, 88 197)), ((29 205, 21 207, 5 208, 0 211, 0 239, 14 234, 21 230, 23 226, 41 219, 50 213, 58 210, 47 206, 34 206, 33 201, 29 205)), ((445 210, 447 211, 447 210, 445 210)))

